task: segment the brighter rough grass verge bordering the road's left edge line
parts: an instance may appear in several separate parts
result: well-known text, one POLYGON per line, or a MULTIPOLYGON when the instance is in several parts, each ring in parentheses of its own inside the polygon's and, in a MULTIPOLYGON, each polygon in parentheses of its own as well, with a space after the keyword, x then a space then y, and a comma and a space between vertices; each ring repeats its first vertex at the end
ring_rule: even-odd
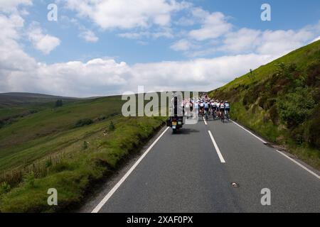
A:
MULTIPOLYGON (((105 126, 110 123, 104 122, 105 126)), ((14 189, 0 190, 0 212, 57 212, 80 204, 94 182, 139 150, 163 123, 164 118, 114 118, 112 130, 97 131, 68 146, 68 152, 54 163, 46 160, 45 177, 36 177, 31 171, 14 189), (48 206, 50 188, 58 191, 58 206, 48 206)), ((90 131, 93 127, 97 126, 83 129, 90 131)))

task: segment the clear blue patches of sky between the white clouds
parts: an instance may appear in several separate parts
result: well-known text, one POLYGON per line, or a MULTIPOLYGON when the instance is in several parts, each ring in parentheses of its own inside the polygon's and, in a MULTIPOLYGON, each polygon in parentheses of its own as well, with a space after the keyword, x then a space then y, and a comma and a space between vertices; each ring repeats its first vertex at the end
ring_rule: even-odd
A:
MULTIPOLYGON (((142 38, 145 43, 139 40, 119 38, 117 34, 124 33, 127 29, 112 29, 101 31, 100 27, 87 18, 79 18, 75 11, 65 9, 64 4, 58 5, 58 22, 49 22, 46 20, 48 10, 46 7, 52 1, 35 1, 29 8, 30 14, 26 17, 26 22, 38 21, 41 26, 51 35, 62 40, 61 45, 50 55, 42 55, 36 52, 32 47, 28 48, 28 53, 36 57, 41 62, 65 62, 70 60, 90 60, 95 57, 115 57, 117 60, 134 64, 137 62, 159 62, 162 60, 187 60, 192 57, 183 55, 183 52, 176 52, 170 49, 170 45, 178 38, 142 38), (79 23, 90 28, 99 37, 97 43, 88 43, 78 37, 78 28, 69 24, 63 17, 76 18, 79 23), (67 27, 66 27, 67 26, 67 27)), ((252 28, 257 30, 289 30, 299 29, 309 24, 316 24, 319 21, 320 2, 316 0, 309 1, 259 1, 259 0, 218 0, 190 1, 194 6, 201 7, 210 12, 223 12, 229 16, 230 23, 237 28, 252 28), (260 6, 264 3, 272 6, 272 21, 261 21, 260 6)), ((186 11, 174 13, 173 20, 186 15, 186 11)), ((183 29, 197 28, 190 26, 181 28, 172 23, 174 32, 183 29)), ((133 29, 136 31, 136 29, 133 29)), ((216 57, 221 53, 210 53, 204 57, 216 57)), ((203 57, 203 56, 201 56, 203 57)))

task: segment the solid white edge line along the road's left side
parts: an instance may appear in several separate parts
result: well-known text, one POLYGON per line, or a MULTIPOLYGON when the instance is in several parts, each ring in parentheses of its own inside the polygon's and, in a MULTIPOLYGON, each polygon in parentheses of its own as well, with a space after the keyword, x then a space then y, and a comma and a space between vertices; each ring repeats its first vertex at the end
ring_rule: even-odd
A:
POLYGON ((129 177, 129 175, 134 171, 134 169, 139 165, 139 163, 144 159, 144 157, 146 157, 146 155, 154 147, 154 145, 156 145, 156 143, 160 140, 160 138, 164 135, 164 133, 168 131, 168 129, 169 127, 166 128, 166 130, 163 133, 161 133, 161 135, 159 135, 159 137, 156 138, 156 140, 154 140, 154 143, 150 145, 148 150, 146 150, 146 152, 139 158, 139 160, 137 160, 137 162, 134 163, 134 165, 130 168, 130 170, 122 177, 122 179, 119 180, 119 182, 117 182, 117 184, 110 190, 110 192, 105 196, 105 198, 103 198, 102 201, 100 201, 100 203, 95 207, 95 209, 92 210, 91 213, 98 213, 100 209, 102 209, 102 206, 105 206, 105 204, 114 194, 114 192, 117 191, 117 189, 121 186, 121 184, 129 177))

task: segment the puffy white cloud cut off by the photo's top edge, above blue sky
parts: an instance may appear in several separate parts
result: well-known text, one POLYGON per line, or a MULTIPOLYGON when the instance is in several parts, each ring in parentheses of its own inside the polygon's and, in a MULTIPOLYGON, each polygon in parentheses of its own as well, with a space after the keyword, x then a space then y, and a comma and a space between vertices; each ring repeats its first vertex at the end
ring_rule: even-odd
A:
POLYGON ((76 11, 80 17, 90 18, 103 29, 168 26, 171 13, 187 5, 176 0, 67 0, 69 9, 76 11))

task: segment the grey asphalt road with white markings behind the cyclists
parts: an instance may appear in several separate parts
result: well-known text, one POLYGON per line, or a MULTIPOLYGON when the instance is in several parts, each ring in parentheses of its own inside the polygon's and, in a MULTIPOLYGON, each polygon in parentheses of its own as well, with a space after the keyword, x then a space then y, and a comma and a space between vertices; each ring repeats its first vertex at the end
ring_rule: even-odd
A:
POLYGON ((199 121, 159 134, 93 212, 320 212, 319 172, 236 123, 199 121), (265 188, 270 206, 261 204, 265 188))

